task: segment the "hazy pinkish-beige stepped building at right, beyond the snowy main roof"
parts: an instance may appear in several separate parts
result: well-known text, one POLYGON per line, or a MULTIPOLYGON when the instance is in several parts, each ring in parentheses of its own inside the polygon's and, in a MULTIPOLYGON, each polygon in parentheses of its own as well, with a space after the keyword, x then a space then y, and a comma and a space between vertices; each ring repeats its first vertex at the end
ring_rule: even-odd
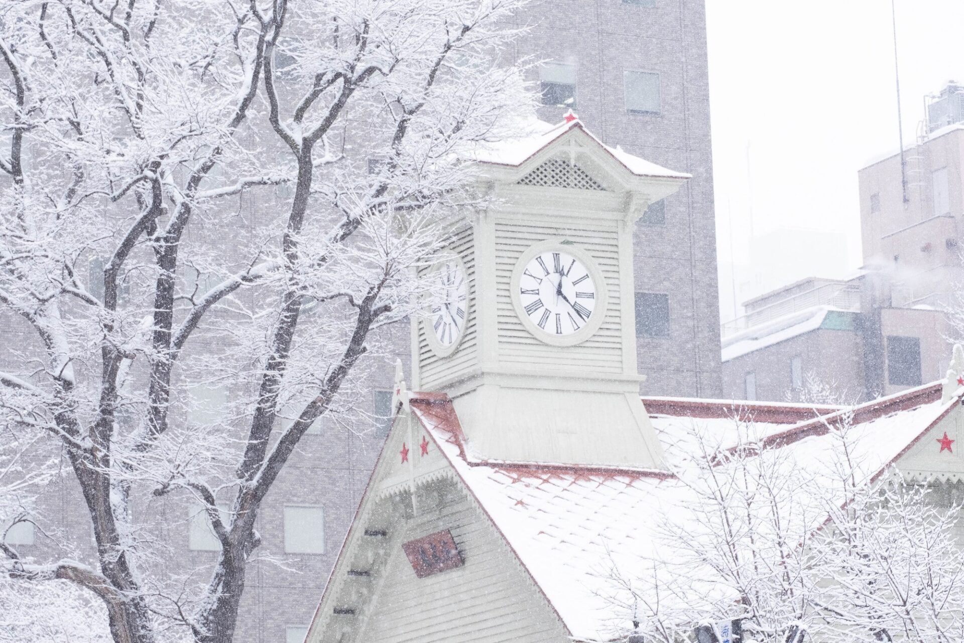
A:
POLYGON ((810 374, 864 400, 944 376, 959 331, 943 310, 959 308, 964 277, 962 120, 951 84, 928 97, 915 144, 858 172, 860 277, 790 284, 723 326, 727 396, 798 398, 810 374))

